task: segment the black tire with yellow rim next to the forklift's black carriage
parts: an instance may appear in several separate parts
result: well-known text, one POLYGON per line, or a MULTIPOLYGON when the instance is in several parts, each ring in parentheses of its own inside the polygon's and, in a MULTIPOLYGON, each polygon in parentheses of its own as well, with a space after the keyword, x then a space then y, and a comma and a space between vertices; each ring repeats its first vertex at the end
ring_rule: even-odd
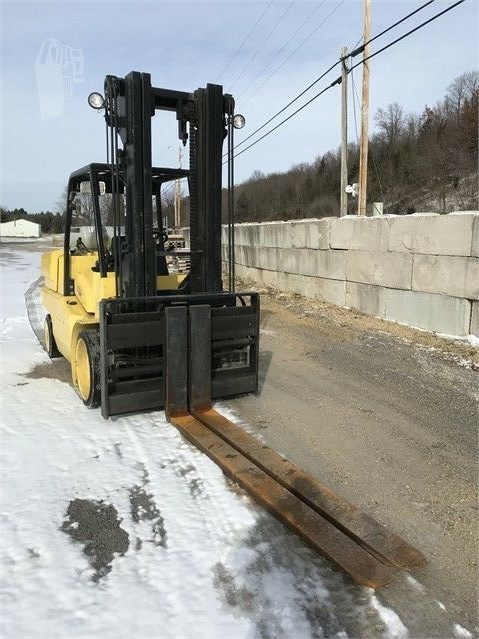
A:
POLYGON ((97 330, 78 335, 74 353, 78 392, 85 406, 97 408, 101 403, 100 334, 97 330))

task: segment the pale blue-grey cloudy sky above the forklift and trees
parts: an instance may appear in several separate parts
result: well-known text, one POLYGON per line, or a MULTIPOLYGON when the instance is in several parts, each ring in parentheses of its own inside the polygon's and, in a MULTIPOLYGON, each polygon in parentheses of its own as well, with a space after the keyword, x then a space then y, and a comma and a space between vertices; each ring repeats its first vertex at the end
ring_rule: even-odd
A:
MULTIPOLYGON (((436 0, 373 50, 452 2, 436 0)), ((372 33, 422 3, 372 0, 372 33)), ((184 91, 219 81, 246 117, 239 142, 334 62, 342 46, 351 49, 361 37, 362 0, 275 0, 222 74, 267 6, 245 0, 3 2, 0 204, 52 209, 73 170, 105 160, 104 121, 87 96, 103 90, 106 74, 145 71, 154 86, 184 91)), ((467 0, 371 61, 372 113, 391 102, 419 112, 439 100, 457 75, 477 66, 478 2, 467 0)), ((236 181, 254 170, 287 170, 337 147, 339 107, 337 86, 241 155, 236 181)), ((155 164, 177 166, 174 116, 157 115, 154 125, 155 164)), ((356 137, 352 101, 349 136, 356 137)))

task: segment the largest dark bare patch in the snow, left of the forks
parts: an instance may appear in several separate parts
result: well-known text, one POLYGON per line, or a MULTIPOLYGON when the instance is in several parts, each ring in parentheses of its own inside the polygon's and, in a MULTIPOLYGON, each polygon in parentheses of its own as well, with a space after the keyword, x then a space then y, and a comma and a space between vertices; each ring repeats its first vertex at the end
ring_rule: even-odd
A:
POLYGON ((120 523, 116 508, 103 501, 74 499, 68 506, 60 530, 83 544, 83 552, 94 570, 94 582, 108 575, 115 554, 121 556, 128 550, 128 533, 120 523))

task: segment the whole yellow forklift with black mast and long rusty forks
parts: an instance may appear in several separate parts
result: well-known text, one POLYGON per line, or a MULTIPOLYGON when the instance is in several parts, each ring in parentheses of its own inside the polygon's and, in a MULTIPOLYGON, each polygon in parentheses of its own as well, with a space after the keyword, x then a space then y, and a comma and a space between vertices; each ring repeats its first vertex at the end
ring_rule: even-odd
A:
MULTIPOLYGON (((169 421, 260 504, 356 582, 389 583, 425 563, 419 551, 214 410, 258 392, 259 296, 234 275, 232 96, 156 88, 150 75, 107 76, 90 106, 104 112, 107 161, 70 175, 64 247, 42 260, 45 343, 71 363, 83 402, 105 419, 165 409, 169 421), (151 123, 176 116, 187 169, 153 167, 151 123), (227 143, 227 277, 221 253, 227 143), (189 187, 190 271, 169 273, 162 188, 189 187), (227 280, 227 281, 224 281, 227 280)), ((184 256, 184 251, 182 251, 184 256)))

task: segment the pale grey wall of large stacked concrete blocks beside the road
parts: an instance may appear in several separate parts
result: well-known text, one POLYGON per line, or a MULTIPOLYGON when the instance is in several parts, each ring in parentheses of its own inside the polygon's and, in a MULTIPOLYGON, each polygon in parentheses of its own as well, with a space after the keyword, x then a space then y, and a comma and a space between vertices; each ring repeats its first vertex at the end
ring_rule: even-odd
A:
MULTIPOLYGON (((223 228, 223 257, 227 230, 223 228)), ((239 277, 451 335, 479 336, 479 212, 239 224, 239 277)))

